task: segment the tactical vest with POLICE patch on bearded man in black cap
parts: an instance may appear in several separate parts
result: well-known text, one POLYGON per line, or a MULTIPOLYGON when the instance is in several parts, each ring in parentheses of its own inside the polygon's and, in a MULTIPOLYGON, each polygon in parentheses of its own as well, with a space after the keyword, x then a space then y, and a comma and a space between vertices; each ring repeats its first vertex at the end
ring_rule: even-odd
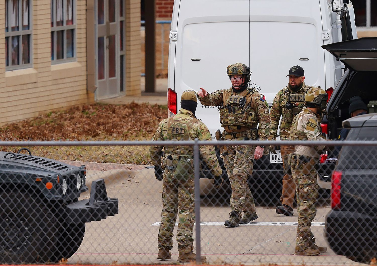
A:
MULTIPOLYGON (((305 85, 304 85, 305 86, 305 85)), ((309 90, 311 86, 305 86, 302 93, 293 94, 288 90, 288 87, 283 89, 283 99, 284 105, 282 105, 282 128, 289 128, 292 124, 292 119, 295 117, 299 112, 302 111, 302 108, 305 104, 305 93, 309 90), (293 107, 291 109, 287 109, 287 104, 291 103, 293 107)))

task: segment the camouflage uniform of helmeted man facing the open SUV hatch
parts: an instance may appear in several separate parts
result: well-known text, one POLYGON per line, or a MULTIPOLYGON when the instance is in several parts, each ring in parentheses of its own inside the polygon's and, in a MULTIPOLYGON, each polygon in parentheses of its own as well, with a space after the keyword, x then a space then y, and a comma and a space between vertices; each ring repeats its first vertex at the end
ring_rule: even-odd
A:
MULTIPOLYGON (((319 126, 320 117, 308 108, 293 119, 291 126, 291 140, 323 140, 319 126)), ((297 193, 297 239, 296 250, 310 248, 313 233, 310 225, 316 216, 316 201, 318 197, 317 170, 315 166, 319 160, 319 150, 325 146, 296 145, 290 162, 292 176, 296 183, 297 193)))

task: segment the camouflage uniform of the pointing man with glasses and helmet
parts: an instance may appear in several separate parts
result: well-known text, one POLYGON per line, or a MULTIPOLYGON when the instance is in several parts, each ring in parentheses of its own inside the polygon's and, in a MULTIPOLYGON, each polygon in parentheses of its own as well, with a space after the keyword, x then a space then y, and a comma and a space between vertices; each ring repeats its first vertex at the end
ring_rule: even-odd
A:
MULTIPOLYGON (((236 93, 232 88, 218 90, 198 99, 203 105, 221 106, 220 122, 224 128, 225 140, 250 139, 266 140, 270 132, 270 116, 265 96, 255 88, 247 88, 236 93), (245 97, 245 102, 242 99, 245 97), (240 105, 241 103, 241 105, 240 105), (243 105, 243 107, 242 107, 243 105), (259 129, 257 129, 259 123, 259 129)), ((244 214, 255 213, 256 208, 247 177, 253 170, 255 146, 224 146, 221 157, 230 179, 232 195, 231 211, 236 211, 239 218, 244 214)))

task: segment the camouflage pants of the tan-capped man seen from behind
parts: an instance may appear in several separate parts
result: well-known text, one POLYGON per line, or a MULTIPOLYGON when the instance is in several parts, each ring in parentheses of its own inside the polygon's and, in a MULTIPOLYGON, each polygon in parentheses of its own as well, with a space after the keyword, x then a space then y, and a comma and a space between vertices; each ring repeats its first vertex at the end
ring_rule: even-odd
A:
MULTIPOLYGON (((191 172, 191 171, 190 171, 191 172)), ((193 246, 195 222, 195 194, 193 173, 188 181, 177 181, 172 171, 164 170, 162 181, 161 224, 158 231, 158 249, 173 248, 173 230, 178 214, 178 251, 187 253, 193 246)))

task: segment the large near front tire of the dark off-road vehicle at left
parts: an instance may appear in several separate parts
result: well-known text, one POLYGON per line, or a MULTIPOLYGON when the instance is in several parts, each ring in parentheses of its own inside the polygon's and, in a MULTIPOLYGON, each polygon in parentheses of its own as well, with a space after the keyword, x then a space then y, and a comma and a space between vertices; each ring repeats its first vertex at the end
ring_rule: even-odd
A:
POLYGON ((0 213, 0 263, 49 262, 57 241, 56 219, 40 196, 0 189, 0 213))

